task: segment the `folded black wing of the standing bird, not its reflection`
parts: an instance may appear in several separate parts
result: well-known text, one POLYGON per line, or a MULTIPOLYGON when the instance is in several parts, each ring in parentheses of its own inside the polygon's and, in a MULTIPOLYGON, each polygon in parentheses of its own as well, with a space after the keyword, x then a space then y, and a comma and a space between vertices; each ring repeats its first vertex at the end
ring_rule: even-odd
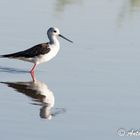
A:
POLYGON ((50 51, 48 43, 43 43, 43 44, 38 44, 30 49, 21 51, 21 52, 16 52, 12 54, 6 54, 2 55, 2 57, 11 57, 11 58, 16 58, 16 57, 35 57, 38 55, 43 55, 47 54, 50 51))

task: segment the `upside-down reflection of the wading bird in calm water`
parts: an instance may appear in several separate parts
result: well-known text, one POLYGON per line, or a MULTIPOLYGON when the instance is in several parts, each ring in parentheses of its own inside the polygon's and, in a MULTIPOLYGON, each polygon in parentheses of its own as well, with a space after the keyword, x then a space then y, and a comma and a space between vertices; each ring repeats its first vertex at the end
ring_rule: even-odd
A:
POLYGON ((8 87, 15 89, 17 92, 22 93, 32 99, 33 105, 39 105, 40 117, 51 120, 52 117, 57 114, 65 112, 64 108, 53 108, 55 104, 55 98, 53 92, 48 86, 36 80, 35 75, 31 75, 33 81, 29 82, 1 82, 6 84, 8 87))

